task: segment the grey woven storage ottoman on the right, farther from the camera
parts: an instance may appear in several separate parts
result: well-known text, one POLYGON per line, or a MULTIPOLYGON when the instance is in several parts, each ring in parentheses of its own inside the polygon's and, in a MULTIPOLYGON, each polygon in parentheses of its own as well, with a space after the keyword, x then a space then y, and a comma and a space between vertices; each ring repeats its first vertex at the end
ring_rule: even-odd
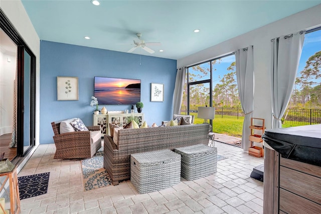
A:
POLYGON ((182 155, 181 176, 195 180, 213 174, 217 167, 217 148, 203 144, 176 148, 182 155))

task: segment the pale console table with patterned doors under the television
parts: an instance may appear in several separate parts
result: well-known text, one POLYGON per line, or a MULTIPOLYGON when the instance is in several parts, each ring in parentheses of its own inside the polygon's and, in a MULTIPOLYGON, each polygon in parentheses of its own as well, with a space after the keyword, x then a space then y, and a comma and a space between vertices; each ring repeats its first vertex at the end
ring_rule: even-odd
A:
POLYGON ((106 115, 93 115, 93 126, 99 126, 101 136, 103 137, 105 134, 110 135, 110 131, 108 128, 108 124, 115 124, 120 127, 124 127, 127 125, 129 118, 135 117, 138 119, 138 126, 141 126, 144 122, 144 114, 142 113, 113 113, 106 115))

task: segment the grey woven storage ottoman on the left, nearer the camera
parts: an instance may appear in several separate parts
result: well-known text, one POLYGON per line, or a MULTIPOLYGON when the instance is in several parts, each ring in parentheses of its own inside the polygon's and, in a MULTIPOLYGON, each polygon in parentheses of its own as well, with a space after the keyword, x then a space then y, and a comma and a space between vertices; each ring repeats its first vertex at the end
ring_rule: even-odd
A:
POLYGON ((181 182, 181 155, 171 150, 131 154, 130 181, 139 193, 153 192, 181 182))

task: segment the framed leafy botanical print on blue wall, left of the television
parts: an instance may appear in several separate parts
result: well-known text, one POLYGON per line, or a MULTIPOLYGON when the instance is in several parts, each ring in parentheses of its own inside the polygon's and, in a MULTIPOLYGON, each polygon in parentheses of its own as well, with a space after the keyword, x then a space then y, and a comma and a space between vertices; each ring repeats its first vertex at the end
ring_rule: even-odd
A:
POLYGON ((78 77, 57 76, 57 100, 78 99, 78 77))

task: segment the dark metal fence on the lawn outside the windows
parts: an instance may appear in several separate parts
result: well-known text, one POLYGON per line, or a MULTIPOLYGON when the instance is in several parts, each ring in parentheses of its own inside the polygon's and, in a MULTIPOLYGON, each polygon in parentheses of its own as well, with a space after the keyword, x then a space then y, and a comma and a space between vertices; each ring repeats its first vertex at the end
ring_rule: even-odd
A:
MULTIPOLYGON (((197 117, 197 107, 190 108, 190 115, 197 117)), ((188 115, 187 107, 182 106, 182 115, 188 115)), ((244 119, 244 113, 241 108, 215 108, 215 117, 244 119)), ((319 109, 287 109, 282 118, 282 123, 286 124, 321 124, 321 110, 319 109)))

